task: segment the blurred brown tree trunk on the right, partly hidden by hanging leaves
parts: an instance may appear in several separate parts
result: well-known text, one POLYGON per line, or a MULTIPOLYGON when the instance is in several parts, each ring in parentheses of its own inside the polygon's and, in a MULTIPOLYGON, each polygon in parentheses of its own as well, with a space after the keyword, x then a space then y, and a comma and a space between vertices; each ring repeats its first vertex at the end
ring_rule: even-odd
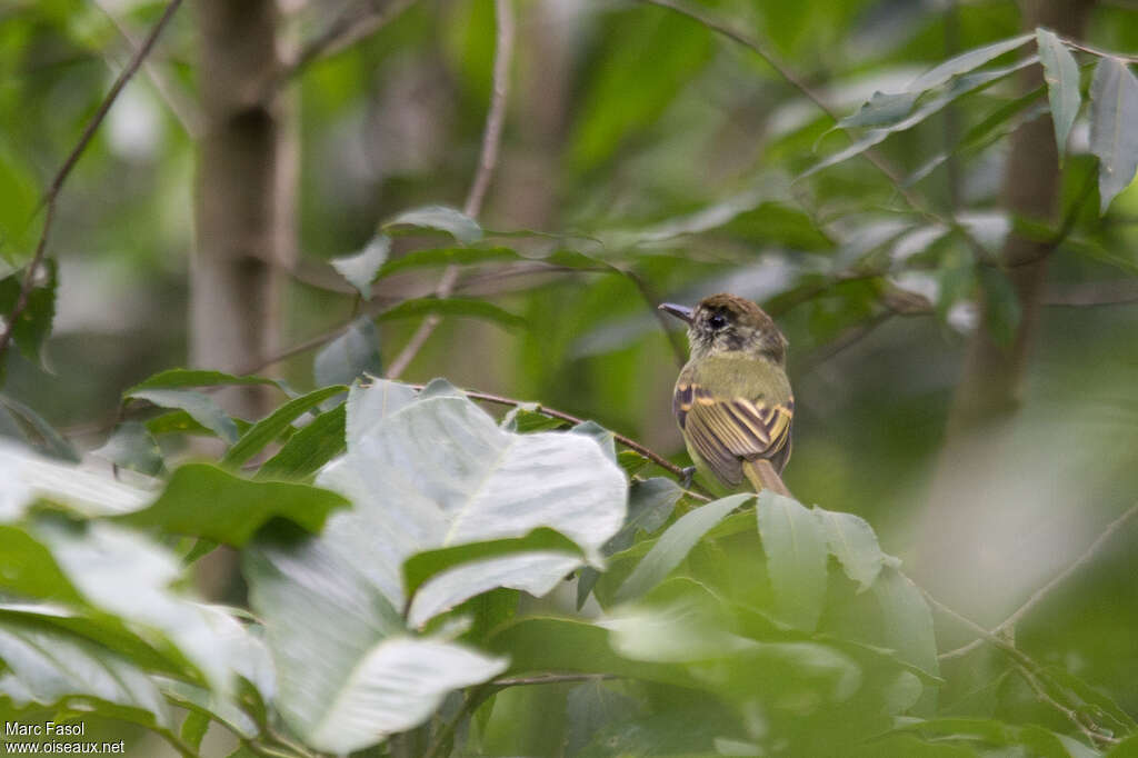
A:
MULTIPOLYGON (((1022 0, 1023 27, 1046 26, 1063 36, 1080 38, 1095 0, 1022 0)), ((1022 72, 1021 90, 1042 84, 1040 66, 1022 72)), ((1049 116, 1021 126, 1012 137, 1004 181, 1004 207, 1013 216, 1054 223, 1059 168, 1055 130, 1049 116)), ((1049 245, 1011 233, 1000 261, 1015 291, 1020 321, 1009 345, 992 339, 987 323, 990 304, 981 296, 980 326, 968 344, 960 381, 949 412, 945 446, 933 479, 918 536, 917 572, 935 587, 937 577, 982 543, 983 488, 1000 470, 1000 430, 1015 417, 1031 348, 1039 329, 1049 245)))

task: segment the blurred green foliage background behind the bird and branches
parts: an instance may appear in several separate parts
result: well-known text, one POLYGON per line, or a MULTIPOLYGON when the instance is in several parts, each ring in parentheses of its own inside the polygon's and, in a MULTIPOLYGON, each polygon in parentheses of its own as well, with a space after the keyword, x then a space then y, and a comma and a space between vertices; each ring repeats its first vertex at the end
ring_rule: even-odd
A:
MULTIPOLYGON (((6 397, 35 409, 81 450, 102 443, 122 390, 154 371, 188 362, 249 368, 191 354, 193 344, 228 338, 224 324, 201 331, 189 316, 201 297, 191 269, 209 239, 195 207, 216 189, 200 182, 203 145, 215 127, 199 105, 211 5, 179 11, 82 155, 51 229, 59 286, 50 339, 40 361, 26 351, 7 356, 6 397)), ((1030 32, 1040 18, 1052 26, 1059 24, 1049 18, 1069 19, 1078 30, 1064 36, 1096 50, 1138 49, 1129 0, 693 7, 760 40, 840 116, 875 92, 904 91, 964 50, 1030 32)), ((11 267, 35 248, 36 204, 53 172, 163 8, 135 0, 0 6, 0 255, 11 267)), ((280 140, 272 167, 286 197, 271 232, 284 254, 261 261, 280 300, 246 314, 272 323, 245 327, 274 333, 250 356, 253 366, 341 328, 361 308, 377 313, 435 291, 439 265, 410 267, 381 275, 361 302, 329 261, 365 248, 385 220, 409 208, 462 207, 494 90, 490 0, 281 0, 277 10, 279 58, 299 63, 283 66, 281 81, 270 71, 261 82, 280 140), (340 27, 360 30, 358 39, 341 35, 298 58, 340 27)), ((897 129, 876 151, 898 182, 864 157, 809 173, 874 124, 853 124, 852 138, 831 130, 834 120, 803 88, 698 19, 650 3, 580 0, 521 0, 514 13, 501 150, 478 214, 492 231, 473 247, 505 247, 536 263, 462 266, 454 293, 522 324, 498 312, 444 314, 405 378, 445 376, 539 402, 683 462, 670 390, 684 346, 654 306, 723 290, 751 297, 790 339, 798 413, 786 481, 795 496, 866 518, 907 571, 989 626, 1135 500, 1138 191, 1099 212, 1089 108, 1062 166, 1054 145, 1034 156, 1057 190, 1055 212, 1032 217, 1016 212, 1016 195, 1031 188, 1017 186, 1024 176, 1009 165, 1021 124, 1044 123, 1052 133, 1038 82, 1004 76, 897 129), (1011 269, 980 259, 968 239, 996 255, 1008 234, 1047 242, 1046 261, 1028 264, 1044 282, 1034 305, 1020 302, 1011 269), (615 267, 541 263, 558 250, 615 267), (1025 316, 1037 306, 1037 316, 1025 316), (968 451, 962 458, 946 437, 956 435, 949 420, 965 402, 962 377, 975 370, 966 354, 984 339, 978 331, 1000 349, 1023 347, 1025 360, 1012 409, 991 414, 995 426, 957 435, 968 451)), ((1077 52, 1088 94, 1098 58, 1077 52)), ((1038 79, 1039 67, 1031 69, 1038 79)), ((1133 117, 1138 106, 1130 107, 1119 113, 1133 117)), ((420 231, 394 238, 389 265, 456 246, 420 231)), ((421 323, 379 320, 385 365, 421 323)), ((316 384, 311 351, 271 370, 302 389, 316 384)), ((256 412, 230 399, 239 415, 256 412)), ((1038 660, 1092 682, 1131 715, 1136 541, 1136 525, 1114 535, 1016 629, 1038 660)), ((942 649, 970 638, 940 618, 938 635, 942 649)), ((963 686, 943 697, 972 694, 963 686)), ((992 697, 993 708, 1046 710, 1030 697, 992 697)))

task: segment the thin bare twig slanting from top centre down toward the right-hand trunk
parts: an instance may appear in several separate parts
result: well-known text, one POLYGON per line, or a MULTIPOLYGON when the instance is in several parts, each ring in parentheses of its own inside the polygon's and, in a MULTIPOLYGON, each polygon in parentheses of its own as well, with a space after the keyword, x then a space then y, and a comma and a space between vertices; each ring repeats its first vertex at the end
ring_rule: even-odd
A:
MULTIPOLYGON (((838 113, 822 94, 811 88, 806 80, 799 76, 790 66, 784 64, 778 56, 768 47, 762 44, 758 39, 752 38, 736 28, 733 28, 729 24, 720 22, 712 16, 704 14, 702 9, 693 7, 685 2, 684 0, 640 0, 643 3, 658 6, 660 8, 667 8, 682 16, 687 16, 692 20, 695 20, 703 26, 707 26, 714 32, 721 34, 723 36, 737 42, 744 48, 751 50, 757 56, 762 58, 768 66, 775 69, 775 72, 782 76, 786 82, 797 89, 799 92, 805 94, 814 105, 818 107, 819 110, 825 113, 827 116, 834 120, 835 123, 841 122, 841 114, 838 113)), ((846 131, 849 131, 847 129, 846 131)), ((973 249, 976 257, 981 261, 989 261, 992 258, 988 249, 978 240, 972 232, 970 232, 955 216, 942 216, 937 213, 927 203, 925 203, 918 195, 916 195, 910 187, 905 184, 902 178, 889 166, 889 163, 881 157, 881 155, 873 148, 868 148, 863 153, 866 159, 874 165, 874 167, 881 172, 885 179, 893 186, 894 191, 905 199, 906 204, 913 211, 924 216, 931 222, 942 224, 950 229, 954 233, 958 234, 968 246, 973 249)))

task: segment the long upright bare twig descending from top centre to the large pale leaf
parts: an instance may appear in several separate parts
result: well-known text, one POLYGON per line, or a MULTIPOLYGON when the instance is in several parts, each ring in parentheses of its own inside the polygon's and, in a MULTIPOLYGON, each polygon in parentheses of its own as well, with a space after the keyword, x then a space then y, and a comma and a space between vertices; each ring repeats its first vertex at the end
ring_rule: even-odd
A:
MULTIPOLYGON (((494 91, 490 96, 489 110, 486 114, 486 130, 483 133, 483 149, 478 158, 478 171, 467 195, 463 213, 477 219, 483 208, 483 199, 489 187, 494 166, 497 164, 498 145, 502 141, 502 125, 505 123, 506 96, 510 91, 510 63, 513 59, 513 0, 494 0, 494 15, 497 23, 497 41, 494 49, 494 91)), ((454 290, 459 280, 459 266, 451 264, 443 271, 435 294, 443 298, 454 290)), ((438 327, 442 316, 431 314, 423 319, 419 329, 411 336, 403 351, 391 361, 387 369, 388 379, 397 379, 414 360, 419 351, 438 327)))

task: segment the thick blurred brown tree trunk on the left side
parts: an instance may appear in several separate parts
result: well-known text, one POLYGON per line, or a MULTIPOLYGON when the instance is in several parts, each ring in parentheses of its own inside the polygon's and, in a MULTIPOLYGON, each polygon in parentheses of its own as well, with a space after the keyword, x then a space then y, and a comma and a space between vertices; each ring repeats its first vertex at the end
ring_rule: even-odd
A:
MULTIPOLYGON (((280 57, 274 0, 197 0, 206 117, 197 180, 197 252, 190 294, 190 362, 233 370, 274 341, 273 265, 281 248, 283 133, 265 98, 280 57)), ((231 411, 265 411, 259 388, 225 397, 231 411)))

